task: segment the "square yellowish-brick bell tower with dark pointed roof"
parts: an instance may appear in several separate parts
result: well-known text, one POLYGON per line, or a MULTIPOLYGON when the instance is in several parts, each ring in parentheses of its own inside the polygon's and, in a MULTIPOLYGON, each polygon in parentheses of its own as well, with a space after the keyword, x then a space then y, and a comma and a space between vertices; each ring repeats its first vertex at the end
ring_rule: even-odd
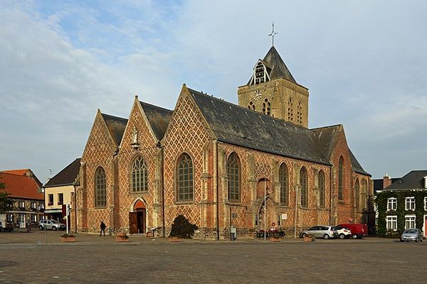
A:
POLYGON ((237 94, 241 107, 308 127, 308 89, 295 81, 274 45, 237 94))

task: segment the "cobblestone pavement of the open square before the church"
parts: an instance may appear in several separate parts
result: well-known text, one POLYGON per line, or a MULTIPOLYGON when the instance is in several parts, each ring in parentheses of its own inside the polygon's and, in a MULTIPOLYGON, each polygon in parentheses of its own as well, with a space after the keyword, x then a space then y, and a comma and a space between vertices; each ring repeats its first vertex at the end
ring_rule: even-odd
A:
POLYGON ((426 283, 427 242, 184 240, 0 233, 0 283, 426 283), (46 244, 47 236, 47 244, 46 244))

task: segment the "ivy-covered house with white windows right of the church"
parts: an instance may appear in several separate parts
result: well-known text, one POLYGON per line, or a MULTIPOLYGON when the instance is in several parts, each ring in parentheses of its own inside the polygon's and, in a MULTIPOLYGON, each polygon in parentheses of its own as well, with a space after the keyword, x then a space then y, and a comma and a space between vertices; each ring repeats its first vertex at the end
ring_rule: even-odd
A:
POLYGON ((377 236, 399 236, 404 229, 418 228, 427 236, 427 170, 412 170, 378 191, 377 236))

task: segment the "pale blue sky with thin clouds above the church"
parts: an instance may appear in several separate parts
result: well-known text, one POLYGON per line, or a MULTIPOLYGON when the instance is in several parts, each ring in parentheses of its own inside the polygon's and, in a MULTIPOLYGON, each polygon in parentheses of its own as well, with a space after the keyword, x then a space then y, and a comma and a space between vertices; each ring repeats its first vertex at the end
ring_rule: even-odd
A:
POLYGON ((0 1, 0 170, 44 183, 97 109, 174 109, 182 84, 237 104, 274 45, 309 128, 343 124, 372 178, 427 169, 427 1, 0 1))

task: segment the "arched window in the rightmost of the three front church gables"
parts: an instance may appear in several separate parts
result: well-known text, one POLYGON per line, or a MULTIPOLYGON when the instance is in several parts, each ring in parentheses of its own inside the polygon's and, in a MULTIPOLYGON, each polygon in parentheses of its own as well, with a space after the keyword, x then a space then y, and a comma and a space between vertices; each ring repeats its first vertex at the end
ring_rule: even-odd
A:
POLYGON ((176 171, 178 177, 177 200, 193 200, 193 162, 187 153, 179 157, 176 171))

